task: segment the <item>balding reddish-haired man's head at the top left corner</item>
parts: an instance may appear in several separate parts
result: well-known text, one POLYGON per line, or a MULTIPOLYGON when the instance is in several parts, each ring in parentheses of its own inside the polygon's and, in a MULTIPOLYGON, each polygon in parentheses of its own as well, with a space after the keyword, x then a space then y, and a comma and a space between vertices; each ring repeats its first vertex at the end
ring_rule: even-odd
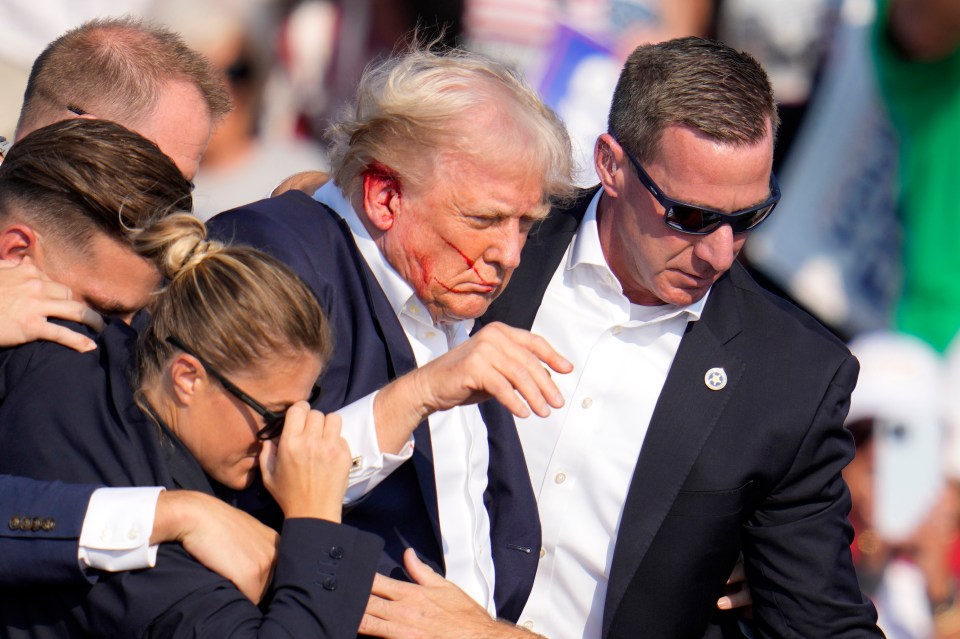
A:
POLYGON ((156 142, 192 180, 229 110, 220 75, 177 34, 104 18, 60 36, 34 62, 16 137, 68 118, 113 120, 156 142))

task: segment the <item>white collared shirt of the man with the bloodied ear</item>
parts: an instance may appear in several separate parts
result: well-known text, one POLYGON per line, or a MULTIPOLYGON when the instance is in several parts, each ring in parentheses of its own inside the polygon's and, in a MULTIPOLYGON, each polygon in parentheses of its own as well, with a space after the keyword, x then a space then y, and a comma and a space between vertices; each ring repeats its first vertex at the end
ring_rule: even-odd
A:
MULTIPOLYGON (((426 306, 387 262, 359 214, 333 182, 321 187, 314 198, 347 222, 360 254, 400 320, 417 366, 467 340, 473 321, 435 325, 426 306)), ((373 396, 337 411, 343 418, 343 436, 352 454, 363 458, 364 468, 354 473, 362 475, 362 481, 351 478, 348 496, 353 498, 368 491, 412 454, 412 438, 399 456, 381 453, 373 422, 373 396)), ((434 413, 429 424, 446 577, 494 614, 490 518, 483 503, 489 462, 486 425, 476 405, 434 413)))

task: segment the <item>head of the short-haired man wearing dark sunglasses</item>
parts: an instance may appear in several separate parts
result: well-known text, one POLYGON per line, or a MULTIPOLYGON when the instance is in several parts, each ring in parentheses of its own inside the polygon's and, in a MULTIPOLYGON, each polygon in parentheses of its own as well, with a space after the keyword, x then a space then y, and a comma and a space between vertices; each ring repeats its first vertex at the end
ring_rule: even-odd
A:
POLYGON ((730 268, 779 194, 778 124, 769 79, 746 53, 681 38, 628 57, 594 159, 601 243, 632 301, 691 304, 730 268))

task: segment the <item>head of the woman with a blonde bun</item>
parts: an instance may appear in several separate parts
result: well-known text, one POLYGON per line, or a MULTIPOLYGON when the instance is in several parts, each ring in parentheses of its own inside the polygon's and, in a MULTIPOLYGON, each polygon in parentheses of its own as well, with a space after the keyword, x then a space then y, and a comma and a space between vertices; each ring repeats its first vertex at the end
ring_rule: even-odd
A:
POLYGON ((168 279, 138 343, 141 401, 211 477, 244 488, 263 439, 280 434, 278 414, 314 395, 331 349, 324 314, 289 268, 207 240, 191 215, 161 220, 135 247, 168 279))

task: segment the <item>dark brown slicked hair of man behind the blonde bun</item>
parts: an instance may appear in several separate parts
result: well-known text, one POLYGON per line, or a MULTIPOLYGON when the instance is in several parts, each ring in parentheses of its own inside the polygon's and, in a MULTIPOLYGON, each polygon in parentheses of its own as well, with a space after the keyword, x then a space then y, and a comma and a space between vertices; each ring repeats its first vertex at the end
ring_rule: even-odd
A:
POLYGON ((191 185, 156 144, 107 120, 37 129, 0 164, 0 222, 12 215, 82 251, 94 232, 131 233, 193 208, 191 185))

